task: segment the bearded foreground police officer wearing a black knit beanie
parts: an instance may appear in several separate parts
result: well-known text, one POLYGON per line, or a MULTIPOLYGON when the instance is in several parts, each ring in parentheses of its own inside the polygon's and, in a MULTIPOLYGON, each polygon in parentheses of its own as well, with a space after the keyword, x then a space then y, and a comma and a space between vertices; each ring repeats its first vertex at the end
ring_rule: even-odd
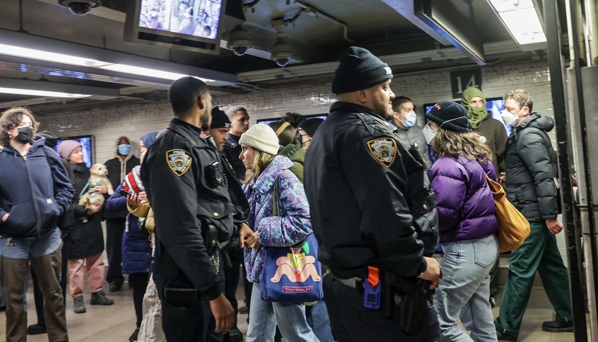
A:
MULTIPOLYGON (((386 63, 350 47, 332 81, 338 102, 307 149, 305 189, 321 261, 332 273, 324 278, 324 297, 337 341, 439 338, 429 301, 419 306, 419 334, 410 335, 401 329, 401 319, 409 317, 401 317, 395 296, 380 291, 391 276, 409 284, 425 279, 429 288, 441 277, 430 258, 438 243, 437 212, 423 160, 399 143, 388 122, 391 78, 386 63), (392 304, 377 304, 380 297, 392 304), (396 309, 392 319, 385 318, 388 309, 396 309)), ((389 293, 407 291, 389 283, 389 293)))

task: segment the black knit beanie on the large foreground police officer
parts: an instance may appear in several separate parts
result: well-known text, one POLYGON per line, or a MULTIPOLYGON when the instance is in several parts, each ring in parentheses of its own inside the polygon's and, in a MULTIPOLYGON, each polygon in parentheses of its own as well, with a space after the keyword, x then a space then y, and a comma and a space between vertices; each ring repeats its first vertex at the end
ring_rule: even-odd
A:
POLYGON ((388 64, 365 48, 352 46, 339 61, 332 80, 332 93, 335 94, 368 89, 392 78, 388 64))

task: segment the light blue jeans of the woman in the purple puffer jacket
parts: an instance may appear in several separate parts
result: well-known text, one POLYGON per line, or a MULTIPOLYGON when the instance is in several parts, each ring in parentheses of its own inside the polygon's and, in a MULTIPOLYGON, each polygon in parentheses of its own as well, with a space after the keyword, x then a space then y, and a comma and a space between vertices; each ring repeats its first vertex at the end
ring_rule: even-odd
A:
POLYGON ((490 270, 498 258, 494 234, 481 239, 443 243, 443 279, 434 295, 440 341, 496 341, 490 297, 490 270), (459 325, 460 317, 468 336, 459 325))

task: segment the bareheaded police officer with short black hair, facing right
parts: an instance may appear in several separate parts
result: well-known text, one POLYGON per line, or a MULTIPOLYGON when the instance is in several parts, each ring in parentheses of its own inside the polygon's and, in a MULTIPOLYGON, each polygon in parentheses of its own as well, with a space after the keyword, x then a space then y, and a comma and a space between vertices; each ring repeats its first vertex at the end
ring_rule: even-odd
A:
POLYGON ((149 146, 141 178, 154 209, 154 280, 168 341, 205 341, 210 309, 216 332, 227 332, 234 310, 222 293, 218 247, 233 234, 234 206, 218 152, 201 138, 211 121, 212 95, 193 77, 170 85, 175 117, 149 146))

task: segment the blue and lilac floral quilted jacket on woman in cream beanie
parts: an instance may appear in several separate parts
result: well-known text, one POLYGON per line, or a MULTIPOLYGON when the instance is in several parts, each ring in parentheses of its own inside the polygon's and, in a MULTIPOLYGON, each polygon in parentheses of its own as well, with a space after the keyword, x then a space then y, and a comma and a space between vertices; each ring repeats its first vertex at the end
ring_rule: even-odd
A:
MULTIPOLYGON (((289 169, 293 162, 277 155, 253 184, 243 185, 249 201, 247 224, 258 233, 262 246, 288 247, 312 234, 309 204, 303 184, 289 169), (280 216, 273 216, 274 181, 278 180, 280 216)), ((247 280, 259 282, 264 268, 264 249, 245 248, 247 280)))

